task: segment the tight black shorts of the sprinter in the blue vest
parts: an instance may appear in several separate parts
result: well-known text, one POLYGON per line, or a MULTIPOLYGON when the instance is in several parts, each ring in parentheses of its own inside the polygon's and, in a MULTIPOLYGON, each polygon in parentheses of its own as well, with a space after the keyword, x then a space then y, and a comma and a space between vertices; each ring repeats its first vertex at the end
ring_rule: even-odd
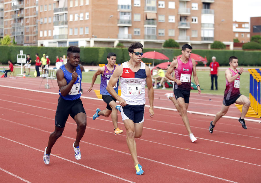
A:
POLYGON ((64 128, 69 114, 74 119, 76 114, 80 112, 85 113, 80 98, 76 100, 64 100, 60 96, 58 99, 58 105, 55 113, 55 126, 59 128, 64 128))

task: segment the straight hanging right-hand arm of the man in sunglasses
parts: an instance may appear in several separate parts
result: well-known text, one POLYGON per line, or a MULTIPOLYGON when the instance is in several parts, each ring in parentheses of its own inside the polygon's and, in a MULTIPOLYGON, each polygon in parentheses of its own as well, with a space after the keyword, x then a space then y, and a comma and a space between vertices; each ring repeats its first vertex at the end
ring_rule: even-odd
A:
POLYGON ((145 66, 145 72, 147 75, 146 83, 147 83, 147 87, 148 87, 148 98, 149 98, 149 102, 150 102, 149 112, 150 112, 150 116, 153 117, 153 115, 154 115, 154 109, 153 109, 154 90, 153 90, 153 85, 152 85, 151 69, 147 65, 145 66))

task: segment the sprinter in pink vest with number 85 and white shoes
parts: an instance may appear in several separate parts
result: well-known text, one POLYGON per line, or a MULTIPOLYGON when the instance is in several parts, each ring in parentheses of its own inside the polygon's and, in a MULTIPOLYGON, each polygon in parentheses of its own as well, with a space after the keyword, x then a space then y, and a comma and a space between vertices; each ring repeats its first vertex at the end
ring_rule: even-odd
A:
POLYGON ((193 133, 190 129, 189 118, 187 115, 187 110, 189 107, 189 95, 190 95, 190 83, 191 83, 191 75, 193 72, 193 78, 197 85, 198 93, 201 93, 200 85, 198 83, 197 73, 196 73, 196 62, 193 58, 190 58, 192 51, 191 45, 184 44, 182 46, 182 56, 177 58, 176 60, 171 62, 169 66, 166 77, 169 80, 175 81, 174 84, 174 94, 173 93, 165 94, 177 108, 180 116, 182 117, 183 123, 189 133, 189 137, 191 142, 195 142, 197 139, 194 137, 193 133), (175 74, 173 77, 171 73, 175 70, 175 74))

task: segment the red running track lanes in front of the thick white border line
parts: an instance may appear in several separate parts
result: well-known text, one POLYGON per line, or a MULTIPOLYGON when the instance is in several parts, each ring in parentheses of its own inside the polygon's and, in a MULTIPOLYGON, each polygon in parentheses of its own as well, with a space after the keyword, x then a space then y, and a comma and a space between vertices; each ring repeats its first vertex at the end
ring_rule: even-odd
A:
MULTIPOLYGON (((56 84, 56 83, 55 83, 56 84)), ((76 124, 69 117, 63 136, 52 149, 50 164, 42 159, 54 130, 58 95, 1 88, 0 182, 260 182, 261 127, 221 118, 213 134, 213 117, 189 114, 198 139, 191 143, 174 111, 145 110, 143 135, 136 140, 144 175, 135 174, 126 145, 126 131, 114 135, 110 117, 92 120, 99 100, 82 99, 87 129, 80 143, 82 159, 74 158, 76 124)), ((157 91, 157 90, 156 90, 157 91)), ((124 129, 120 115, 119 127, 124 129)))

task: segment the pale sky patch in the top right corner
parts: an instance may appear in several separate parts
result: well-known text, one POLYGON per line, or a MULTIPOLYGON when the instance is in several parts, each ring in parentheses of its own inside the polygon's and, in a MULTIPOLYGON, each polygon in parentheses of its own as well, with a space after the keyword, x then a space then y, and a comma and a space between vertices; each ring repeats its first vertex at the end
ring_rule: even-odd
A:
POLYGON ((250 22, 250 17, 261 17, 261 0, 233 0, 233 21, 250 22))

